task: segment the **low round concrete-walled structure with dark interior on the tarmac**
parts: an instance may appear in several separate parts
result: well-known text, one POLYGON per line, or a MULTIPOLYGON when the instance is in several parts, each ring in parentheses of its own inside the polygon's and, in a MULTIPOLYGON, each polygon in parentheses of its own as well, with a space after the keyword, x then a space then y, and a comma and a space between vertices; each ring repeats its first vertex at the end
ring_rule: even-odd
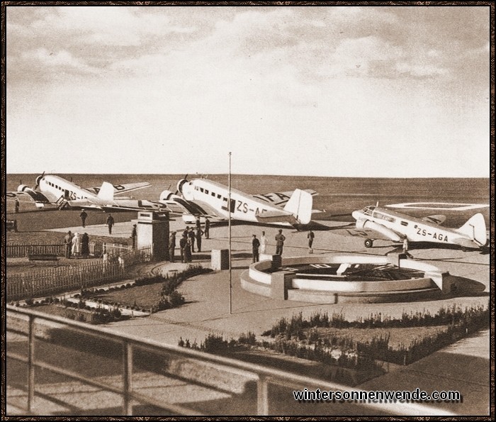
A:
POLYGON ((421 261, 371 255, 318 255, 255 262, 243 289, 274 299, 335 304, 434 299, 449 291, 439 268, 421 261), (381 279, 381 274, 384 274, 381 279))

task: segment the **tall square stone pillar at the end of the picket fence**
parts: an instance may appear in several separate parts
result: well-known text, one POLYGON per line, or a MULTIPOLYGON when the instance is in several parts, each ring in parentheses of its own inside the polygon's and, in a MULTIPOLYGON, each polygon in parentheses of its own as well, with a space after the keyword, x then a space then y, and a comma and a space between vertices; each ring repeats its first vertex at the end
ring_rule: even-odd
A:
POLYGON ((138 212, 136 247, 139 249, 150 245, 154 260, 169 259, 169 213, 138 212))

